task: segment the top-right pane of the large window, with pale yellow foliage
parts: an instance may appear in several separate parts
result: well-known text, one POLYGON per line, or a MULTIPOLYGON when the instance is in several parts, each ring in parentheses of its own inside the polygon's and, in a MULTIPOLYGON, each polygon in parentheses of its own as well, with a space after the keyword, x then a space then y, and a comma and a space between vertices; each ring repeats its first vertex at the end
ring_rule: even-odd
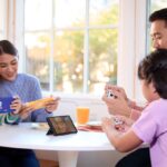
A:
POLYGON ((118 23, 118 0, 90 0, 90 26, 118 23))

